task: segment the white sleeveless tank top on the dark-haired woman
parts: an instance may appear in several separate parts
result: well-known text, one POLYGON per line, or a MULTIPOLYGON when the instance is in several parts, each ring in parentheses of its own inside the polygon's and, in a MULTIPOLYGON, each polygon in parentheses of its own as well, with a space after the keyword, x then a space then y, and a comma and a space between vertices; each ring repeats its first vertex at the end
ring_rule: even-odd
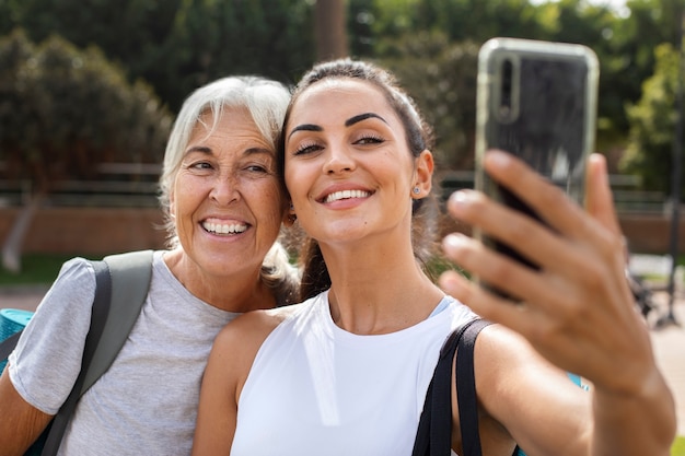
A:
POLYGON ((301 304, 257 352, 231 455, 410 455, 440 348, 475 317, 449 296, 438 307, 407 329, 358 336, 334 324, 327 292, 301 304))

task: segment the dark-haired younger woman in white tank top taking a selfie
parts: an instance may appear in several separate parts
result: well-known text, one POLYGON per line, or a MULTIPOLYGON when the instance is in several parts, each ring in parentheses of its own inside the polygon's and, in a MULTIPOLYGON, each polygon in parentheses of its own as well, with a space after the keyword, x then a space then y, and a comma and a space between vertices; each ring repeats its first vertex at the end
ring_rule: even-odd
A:
MULTIPOLYGON (((194 455, 409 455, 440 348, 476 317, 432 283, 413 249, 413 212, 431 190, 428 130, 387 72, 339 60, 299 83, 281 142, 294 213, 315 241, 304 256, 309 299, 219 335, 194 455)), ((483 454, 509 456, 519 443, 529 456, 667 455, 673 402, 625 282, 603 162, 590 164, 588 212, 506 154, 490 153, 486 167, 555 231, 473 191, 451 200, 455 215, 543 266, 445 241, 455 260, 525 302, 443 277, 449 292, 502 323, 475 348, 483 454)), ((462 454, 454 401, 452 414, 462 454)))

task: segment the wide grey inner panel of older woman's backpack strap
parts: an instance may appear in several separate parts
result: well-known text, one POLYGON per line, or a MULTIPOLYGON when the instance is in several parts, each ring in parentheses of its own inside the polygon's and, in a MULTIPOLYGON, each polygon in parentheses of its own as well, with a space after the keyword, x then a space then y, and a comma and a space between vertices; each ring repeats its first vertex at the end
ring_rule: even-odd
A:
POLYGON ((112 305, 80 395, 104 374, 133 328, 150 289, 152 250, 130 252, 104 258, 112 278, 112 305))

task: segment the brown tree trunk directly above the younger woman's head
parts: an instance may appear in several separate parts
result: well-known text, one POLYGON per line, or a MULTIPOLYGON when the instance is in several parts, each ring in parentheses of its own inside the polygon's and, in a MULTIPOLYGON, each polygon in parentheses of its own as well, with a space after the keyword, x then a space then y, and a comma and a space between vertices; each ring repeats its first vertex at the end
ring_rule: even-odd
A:
POLYGON ((346 1, 316 0, 314 15, 317 60, 347 57, 346 1))

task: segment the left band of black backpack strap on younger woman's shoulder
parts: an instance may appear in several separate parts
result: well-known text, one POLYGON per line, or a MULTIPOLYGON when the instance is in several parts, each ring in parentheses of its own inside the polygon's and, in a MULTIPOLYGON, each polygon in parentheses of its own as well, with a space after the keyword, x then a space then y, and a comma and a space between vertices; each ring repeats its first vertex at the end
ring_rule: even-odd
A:
POLYGON ((489 321, 481 319, 467 321, 453 330, 442 346, 433 377, 426 393, 426 401, 414 441, 413 456, 444 456, 450 454, 452 446, 451 385, 454 353, 456 353, 460 341, 469 328, 476 326, 481 329, 487 325, 489 321))

